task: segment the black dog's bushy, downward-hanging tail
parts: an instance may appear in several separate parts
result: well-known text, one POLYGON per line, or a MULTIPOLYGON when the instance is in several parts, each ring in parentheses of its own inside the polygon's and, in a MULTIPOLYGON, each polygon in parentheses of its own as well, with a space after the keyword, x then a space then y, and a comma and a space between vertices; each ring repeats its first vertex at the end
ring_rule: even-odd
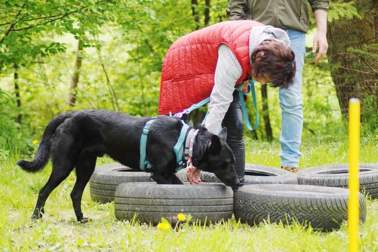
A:
POLYGON ((72 117, 76 112, 70 111, 64 114, 60 114, 53 118, 48 124, 43 133, 41 144, 38 147, 32 161, 19 160, 17 164, 27 172, 36 172, 41 170, 47 163, 50 156, 50 139, 54 135, 56 128, 63 123, 67 118, 72 117))

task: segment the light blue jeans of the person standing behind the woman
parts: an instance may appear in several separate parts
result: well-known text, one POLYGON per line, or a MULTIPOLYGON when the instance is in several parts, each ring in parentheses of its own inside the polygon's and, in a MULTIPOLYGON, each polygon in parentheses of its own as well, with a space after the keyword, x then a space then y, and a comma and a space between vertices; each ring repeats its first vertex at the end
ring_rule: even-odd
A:
POLYGON ((305 64, 306 40, 305 32, 287 29, 290 47, 295 53, 296 72, 293 85, 279 89, 279 105, 282 109, 282 130, 279 137, 281 143, 281 165, 298 167, 300 141, 303 128, 302 109, 302 70, 305 64))

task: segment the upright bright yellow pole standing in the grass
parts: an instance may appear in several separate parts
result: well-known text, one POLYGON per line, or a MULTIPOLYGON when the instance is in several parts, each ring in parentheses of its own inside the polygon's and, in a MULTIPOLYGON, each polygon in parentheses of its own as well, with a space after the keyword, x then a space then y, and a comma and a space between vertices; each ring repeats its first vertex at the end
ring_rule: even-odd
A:
POLYGON ((359 99, 349 100, 349 204, 348 204, 348 234, 349 251, 358 251, 359 224, 359 138, 360 138, 360 109, 359 99))

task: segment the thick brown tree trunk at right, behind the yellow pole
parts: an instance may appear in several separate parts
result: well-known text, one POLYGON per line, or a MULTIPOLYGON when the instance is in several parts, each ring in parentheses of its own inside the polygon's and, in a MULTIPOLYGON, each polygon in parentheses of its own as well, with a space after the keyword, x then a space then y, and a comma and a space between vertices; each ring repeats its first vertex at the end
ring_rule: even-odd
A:
POLYGON ((376 40, 372 25, 374 11, 360 12, 361 9, 366 8, 366 1, 363 0, 356 1, 356 7, 358 13, 364 15, 362 19, 339 19, 328 24, 327 32, 329 42, 327 54, 333 66, 331 76, 345 118, 347 118, 350 98, 358 97, 363 103, 365 95, 378 97, 378 64, 376 58, 371 56, 377 51, 373 47, 368 47, 376 40))

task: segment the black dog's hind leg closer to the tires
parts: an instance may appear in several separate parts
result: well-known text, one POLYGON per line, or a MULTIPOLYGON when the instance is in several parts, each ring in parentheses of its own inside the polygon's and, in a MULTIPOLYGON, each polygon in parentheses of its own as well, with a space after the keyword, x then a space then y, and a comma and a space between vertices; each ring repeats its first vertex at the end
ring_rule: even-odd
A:
POLYGON ((93 171, 95 170, 97 156, 90 152, 82 152, 76 164, 76 182, 71 192, 73 210, 78 221, 85 223, 88 218, 83 217, 82 196, 93 171))

